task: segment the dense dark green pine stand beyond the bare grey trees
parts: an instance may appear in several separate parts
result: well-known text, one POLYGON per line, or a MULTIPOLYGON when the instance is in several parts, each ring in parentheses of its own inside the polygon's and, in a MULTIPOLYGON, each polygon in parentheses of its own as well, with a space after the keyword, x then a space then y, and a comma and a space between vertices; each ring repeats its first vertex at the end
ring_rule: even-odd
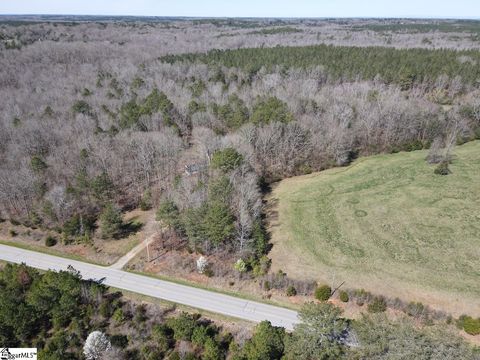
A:
MULTIPOLYGON (((459 76, 466 84, 477 84, 480 70, 478 51, 449 49, 392 49, 378 47, 306 46, 261 49, 211 50, 207 54, 173 55, 161 58, 198 61, 208 65, 241 68, 250 76, 265 67, 280 69, 319 67, 332 80, 354 81, 381 79, 397 83, 403 90, 413 83, 434 85, 439 76, 459 76)), ((285 71, 284 70, 284 71, 285 71)))

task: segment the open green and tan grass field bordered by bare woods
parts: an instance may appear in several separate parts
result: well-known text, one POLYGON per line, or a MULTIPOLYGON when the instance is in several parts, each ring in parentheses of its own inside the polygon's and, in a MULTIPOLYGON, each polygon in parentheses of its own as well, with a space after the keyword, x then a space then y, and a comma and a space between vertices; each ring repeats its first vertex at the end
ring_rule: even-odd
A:
POLYGON ((273 270, 480 316, 480 142, 454 153, 448 176, 415 151, 278 183, 273 270))

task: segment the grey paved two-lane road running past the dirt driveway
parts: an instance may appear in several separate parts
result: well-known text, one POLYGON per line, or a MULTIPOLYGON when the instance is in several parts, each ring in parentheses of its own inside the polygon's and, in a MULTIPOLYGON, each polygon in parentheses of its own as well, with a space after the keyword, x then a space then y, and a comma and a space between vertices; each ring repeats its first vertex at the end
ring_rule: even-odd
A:
POLYGON ((298 322, 297 313, 285 308, 1 244, 0 260, 40 270, 67 270, 71 265, 84 279, 104 278, 108 286, 253 322, 269 320, 288 330, 298 322))

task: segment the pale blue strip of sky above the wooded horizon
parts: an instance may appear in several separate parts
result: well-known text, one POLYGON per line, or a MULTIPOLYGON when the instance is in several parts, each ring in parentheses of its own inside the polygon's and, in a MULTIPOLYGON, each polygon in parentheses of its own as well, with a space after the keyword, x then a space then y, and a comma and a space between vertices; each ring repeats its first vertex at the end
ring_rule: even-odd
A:
POLYGON ((0 14, 480 18, 480 0, 0 0, 0 14))

